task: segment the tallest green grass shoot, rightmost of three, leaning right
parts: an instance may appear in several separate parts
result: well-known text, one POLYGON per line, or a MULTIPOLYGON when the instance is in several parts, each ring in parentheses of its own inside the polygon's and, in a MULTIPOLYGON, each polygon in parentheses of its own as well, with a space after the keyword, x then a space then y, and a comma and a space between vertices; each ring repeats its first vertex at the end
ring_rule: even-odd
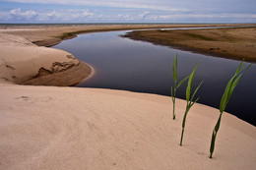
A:
POLYGON ((217 121, 217 124, 215 126, 215 129, 214 129, 213 135, 212 135, 212 141, 211 141, 211 146, 210 146, 210 158, 213 158, 213 153, 214 153, 214 150, 215 150, 216 136, 217 136, 217 133, 220 129, 221 120, 222 120, 222 116, 223 116, 223 113, 224 113, 225 106, 226 106, 228 100, 230 99, 231 94, 232 94, 235 86, 237 85, 239 79, 241 78, 243 72, 246 71, 247 69, 249 69, 249 67, 252 65, 252 64, 250 64, 248 66, 244 66, 241 69, 242 63, 243 63, 243 60, 241 61, 241 63, 239 65, 238 69, 236 70, 234 76, 230 79, 230 81, 225 86, 224 94, 223 94, 221 104, 220 104, 220 116, 219 116, 219 119, 217 121))

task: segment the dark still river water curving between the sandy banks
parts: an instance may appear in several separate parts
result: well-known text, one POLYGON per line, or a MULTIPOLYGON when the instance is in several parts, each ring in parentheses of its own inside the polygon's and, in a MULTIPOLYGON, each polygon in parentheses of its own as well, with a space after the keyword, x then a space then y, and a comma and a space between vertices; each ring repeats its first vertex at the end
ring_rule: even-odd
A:
MULTIPOLYGON (((240 62, 119 36, 126 32, 80 34, 53 48, 68 51, 94 67, 95 76, 77 86, 125 89, 162 95, 170 95, 170 86, 174 84, 171 67, 177 52, 178 79, 188 76, 199 63, 194 80, 194 86, 204 80, 197 93, 200 96, 199 103, 219 108, 224 87, 240 62)), ((186 84, 183 84, 177 91, 177 97, 184 98, 185 89, 186 84)), ((256 64, 253 64, 240 79, 225 111, 256 126, 255 96, 256 64)))

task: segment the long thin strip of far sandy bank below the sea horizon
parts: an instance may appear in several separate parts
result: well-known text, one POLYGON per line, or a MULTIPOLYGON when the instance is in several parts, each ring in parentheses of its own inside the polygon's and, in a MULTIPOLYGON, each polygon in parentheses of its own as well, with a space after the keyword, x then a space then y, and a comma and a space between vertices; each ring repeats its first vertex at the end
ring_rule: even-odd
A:
POLYGON ((53 46, 64 39, 76 37, 79 33, 129 30, 147 28, 208 28, 208 27, 241 27, 251 26, 251 24, 215 24, 215 25, 86 25, 86 26, 48 26, 48 27, 11 27, 0 28, 0 33, 15 34, 22 36, 38 46, 53 46))

